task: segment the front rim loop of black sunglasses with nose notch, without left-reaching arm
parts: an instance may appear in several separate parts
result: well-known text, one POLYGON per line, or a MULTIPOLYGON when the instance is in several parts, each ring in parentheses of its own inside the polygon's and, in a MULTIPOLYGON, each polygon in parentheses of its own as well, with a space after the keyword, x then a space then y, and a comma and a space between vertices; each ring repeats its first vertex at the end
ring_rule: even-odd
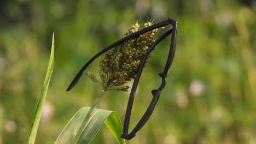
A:
MULTIPOLYGON (((147 123, 148 119, 150 118, 150 116, 152 115, 152 113, 154 111, 156 103, 158 102, 158 99, 160 97, 160 93, 161 93, 162 89, 164 89, 164 87, 165 87, 166 77, 167 77, 168 71, 170 70, 171 63, 172 63, 173 58, 174 58, 174 53, 175 53, 175 48, 176 48, 175 47, 176 46, 175 45, 175 40, 176 40, 176 32, 177 32, 177 22, 172 20, 172 19, 170 19, 170 18, 168 18, 167 21, 170 22, 169 24, 172 25, 172 28, 168 29, 164 33, 166 35, 164 35, 164 34, 160 35, 160 37, 162 37, 162 38, 158 39, 159 41, 156 40, 156 44, 155 45, 153 44, 153 46, 150 47, 153 50, 154 47, 156 45, 158 45, 158 43, 160 43, 160 41, 162 39, 165 39, 168 35, 172 34, 171 45, 170 45, 170 50, 169 50, 169 53, 168 53, 165 69, 164 69, 164 71, 159 73, 159 75, 162 77, 162 83, 161 83, 161 85, 160 85, 160 87, 158 89, 154 89, 152 91, 152 94, 153 94, 154 97, 153 97, 152 101, 150 102, 146 112, 144 113, 142 118, 139 120, 139 122, 136 124, 136 126, 128 134, 133 99, 135 98, 135 93, 136 93, 136 88, 137 88, 137 85, 138 85, 139 77, 141 76, 142 69, 144 67, 145 62, 141 63, 139 65, 138 72, 136 74, 135 81, 133 82, 132 90, 131 90, 129 101, 128 101, 128 104, 127 104, 127 109, 126 109, 126 114, 125 114, 125 122, 124 122, 124 127, 123 127, 123 134, 121 135, 121 137, 123 139, 127 139, 127 140, 132 139, 134 136, 136 136, 136 134, 144 126, 144 124, 147 123), (174 29, 174 32, 173 32, 173 29, 174 29), (170 33, 168 34, 167 32, 170 32, 170 33), (135 89, 135 90, 133 90, 133 89, 135 89)), ((150 52, 148 52, 148 55, 149 55, 150 52)), ((148 56, 144 56, 144 59, 147 59, 147 57, 148 56)))

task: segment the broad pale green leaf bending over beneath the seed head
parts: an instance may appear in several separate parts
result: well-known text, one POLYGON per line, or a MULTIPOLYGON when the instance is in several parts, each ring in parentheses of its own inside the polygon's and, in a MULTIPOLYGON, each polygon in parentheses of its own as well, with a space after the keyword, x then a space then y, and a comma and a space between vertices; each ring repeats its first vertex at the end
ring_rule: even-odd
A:
MULTIPOLYGON (((82 124, 85 116, 87 115, 90 107, 83 107, 80 109, 68 122, 66 127, 61 131, 61 134, 55 141, 55 144, 59 143, 73 143, 75 135, 82 124)), ((114 111, 95 109, 92 113, 88 124, 85 125, 82 135, 79 138, 78 143, 90 143, 98 133, 103 123, 107 125, 118 143, 125 143, 124 139, 121 139, 122 125, 118 114, 114 111)))

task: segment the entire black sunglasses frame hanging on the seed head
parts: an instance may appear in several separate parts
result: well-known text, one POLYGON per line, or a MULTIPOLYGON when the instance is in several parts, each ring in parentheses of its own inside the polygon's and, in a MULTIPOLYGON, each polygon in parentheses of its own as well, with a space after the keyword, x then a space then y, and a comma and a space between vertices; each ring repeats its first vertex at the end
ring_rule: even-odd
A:
POLYGON ((155 40, 155 42, 153 43, 153 45, 151 45, 149 47, 148 51, 146 52, 146 55, 143 57, 143 60, 139 64, 139 67, 138 67, 138 70, 137 70, 137 73, 136 73, 136 77, 133 81, 133 85, 132 85, 132 88, 131 88, 129 101, 128 101, 128 104, 127 104, 125 120, 124 120, 124 127, 123 127, 123 134, 121 135, 121 137, 123 139, 127 139, 127 140, 132 139, 132 137, 136 136, 136 134, 144 126, 144 124, 146 124, 149 117, 152 115, 152 112, 155 108, 156 103, 158 102, 158 99, 160 97, 160 93, 161 93, 162 89, 164 89, 164 87, 166 85, 166 77, 167 77, 168 71, 171 67, 171 64, 172 64, 172 61, 173 61, 173 58, 174 58, 174 53, 175 53, 175 40, 176 40, 176 33, 177 33, 177 26, 178 26, 177 21, 168 18, 165 21, 155 23, 152 26, 149 26, 147 28, 143 28, 143 29, 141 29, 141 30, 139 30, 135 33, 127 35, 126 37, 124 37, 124 38, 116 41, 115 43, 107 46, 102 51, 98 52, 94 57, 92 57, 84 65, 84 67, 82 69, 80 69, 78 74, 74 77, 73 81, 71 82, 71 84, 67 88, 67 91, 71 90, 77 84, 80 77, 83 75, 84 70, 91 64, 91 62, 93 62, 97 57, 101 56, 103 53, 113 49, 115 46, 118 46, 118 45, 124 43, 124 41, 126 41, 130 38, 137 37, 140 34, 143 34, 143 33, 146 33, 148 31, 152 31, 153 29, 164 27, 164 26, 167 26, 167 25, 171 25, 172 27, 169 28, 167 31, 165 31, 163 34, 161 34, 160 37, 155 40), (138 82, 139 82, 139 79, 141 77, 142 70, 143 70, 144 65, 146 63, 146 60, 147 60, 149 54, 154 50, 154 47, 156 45, 158 45, 163 39, 168 37, 168 35, 170 35, 170 34, 172 34, 172 38, 171 38, 170 50, 168 52, 168 57, 167 57, 167 61, 166 61, 166 64, 165 64, 165 69, 164 69, 164 71, 161 71, 160 73, 158 73, 159 76, 162 78, 162 83, 161 83, 161 85, 158 89, 152 90, 152 94, 153 94, 154 97, 153 97, 150 105, 148 106, 148 109, 146 110, 146 112, 144 113, 144 115, 142 116, 142 118, 140 119, 138 124, 135 126, 135 128, 131 131, 130 134, 128 134, 132 104, 133 104, 133 100, 135 98, 135 93, 136 93, 136 90, 137 90, 138 82))

